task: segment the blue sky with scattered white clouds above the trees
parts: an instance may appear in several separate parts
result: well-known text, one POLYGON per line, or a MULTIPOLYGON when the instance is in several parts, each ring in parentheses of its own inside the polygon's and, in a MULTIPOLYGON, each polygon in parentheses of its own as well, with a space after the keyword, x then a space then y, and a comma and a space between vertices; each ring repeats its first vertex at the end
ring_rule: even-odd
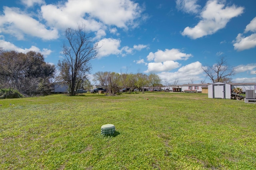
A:
POLYGON ((1 0, 0 47, 57 64, 65 29, 82 23, 102 44, 91 74, 211 82, 202 66, 224 56, 236 70, 232 82, 256 82, 255 7, 254 0, 1 0))

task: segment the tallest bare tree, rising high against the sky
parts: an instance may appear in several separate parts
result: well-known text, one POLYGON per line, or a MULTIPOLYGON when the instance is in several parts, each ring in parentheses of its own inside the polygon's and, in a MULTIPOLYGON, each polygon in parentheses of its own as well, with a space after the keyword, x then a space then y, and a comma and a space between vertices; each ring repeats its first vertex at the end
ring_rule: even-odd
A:
POLYGON ((66 29, 65 37, 68 42, 68 45, 63 45, 65 59, 59 61, 58 66, 60 76, 69 85, 70 95, 74 96, 90 72, 89 61, 98 55, 98 44, 91 41, 91 35, 86 35, 84 25, 78 25, 77 29, 66 29))

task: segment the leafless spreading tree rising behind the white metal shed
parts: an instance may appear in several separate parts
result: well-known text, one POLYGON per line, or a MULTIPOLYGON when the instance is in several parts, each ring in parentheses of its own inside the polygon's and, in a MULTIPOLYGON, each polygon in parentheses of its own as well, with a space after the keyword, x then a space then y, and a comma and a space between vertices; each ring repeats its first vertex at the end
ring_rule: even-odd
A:
POLYGON ((231 79, 229 76, 233 76, 235 74, 234 68, 230 68, 230 66, 228 66, 225 57, 220 57, 220 60, 212 67, 202 66, 202 69, 210 77, 213 83, 230 82, 231 79))

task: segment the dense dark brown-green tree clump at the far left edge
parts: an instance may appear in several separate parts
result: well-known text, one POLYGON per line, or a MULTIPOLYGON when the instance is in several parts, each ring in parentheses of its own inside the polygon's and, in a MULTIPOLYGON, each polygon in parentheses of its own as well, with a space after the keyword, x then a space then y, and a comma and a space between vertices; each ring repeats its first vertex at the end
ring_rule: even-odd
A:
POLYGON ((31 96, 48 94, 56 68, 44 61, 41 53, 0 49, 0 88, 18 90, 31 96))

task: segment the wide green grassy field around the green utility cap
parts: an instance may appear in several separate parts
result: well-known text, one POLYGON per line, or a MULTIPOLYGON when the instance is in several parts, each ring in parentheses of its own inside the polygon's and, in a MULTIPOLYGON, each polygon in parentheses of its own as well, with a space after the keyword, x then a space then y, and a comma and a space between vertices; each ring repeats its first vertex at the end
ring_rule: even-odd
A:
POLYGON ((147 92, 0 100, 3 170, 252 170, 256 105, 147 92), (148 100, 146 100, 148 98, 148 100), (114 124, 113 136, 100 134, 114 124))

